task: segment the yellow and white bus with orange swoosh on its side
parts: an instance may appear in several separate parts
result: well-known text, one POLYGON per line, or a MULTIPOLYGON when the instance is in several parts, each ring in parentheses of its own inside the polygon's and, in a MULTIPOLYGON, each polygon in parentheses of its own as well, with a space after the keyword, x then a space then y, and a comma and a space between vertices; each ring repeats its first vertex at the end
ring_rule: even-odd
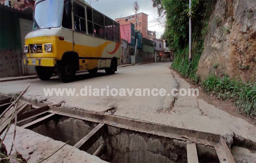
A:
POLYGON ((37 0, 24 52, 24 64, 35 65, 42 80, 56 69, 65 83, 79 70, 114 74, 121 54, 120 26, 81 0, 37 0))

